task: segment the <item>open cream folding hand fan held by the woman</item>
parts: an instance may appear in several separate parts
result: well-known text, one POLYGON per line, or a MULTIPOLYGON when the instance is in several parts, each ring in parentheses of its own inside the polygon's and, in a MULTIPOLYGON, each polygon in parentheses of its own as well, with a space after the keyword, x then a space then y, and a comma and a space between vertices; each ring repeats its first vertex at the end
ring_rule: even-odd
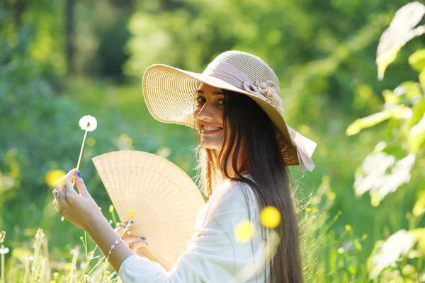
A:
POLYGON ((92 160, 120 221, 134 212, 131 233, 149 244, 142 252, 171 270, 205 205, 196 184, 171 161, 147 152, 114 151, 92 160))

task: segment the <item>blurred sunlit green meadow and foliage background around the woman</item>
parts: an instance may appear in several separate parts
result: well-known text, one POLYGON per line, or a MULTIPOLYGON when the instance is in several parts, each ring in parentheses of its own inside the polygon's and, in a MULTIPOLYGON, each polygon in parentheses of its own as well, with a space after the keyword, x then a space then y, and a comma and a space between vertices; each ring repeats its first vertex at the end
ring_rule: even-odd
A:
MULTIPOLYGON (((80 171, 108 219, 111 201, 94 156, 148 151, 196 175, 193 129, 149 115, 142 75, 154 63, 201 72, 226 50, 250 52, 270 65, 288 125, 317 142, 314 171, 291 168, 306 281, 425 281, 425 35, 404 47, 409 39, 390 35, 394 46, 380 71, 395 62, 382 80, 375 64, 380 36, 408 2, 1 1, 5 282, 40 276, 24 275, 42 238, 40 232, 35 238, 38 228, 48 240, 48 250, 47 241, 39 244, 51 270, 42 282, 70 282, 70 274, 84 270, 84 252, 75 248, 84 250, 83 232, 62 222, 52 205, 52 183, 77 165, 80 117, 98 121, 80 171)), ((424 25, 419 8, 407 18, 415 15, 424 25)), ((274 207, 261 214, 263 226, 273 229, 279 221, 274 207)), ((249 222, 234 230, 242 242, 253 233, 249 222)))

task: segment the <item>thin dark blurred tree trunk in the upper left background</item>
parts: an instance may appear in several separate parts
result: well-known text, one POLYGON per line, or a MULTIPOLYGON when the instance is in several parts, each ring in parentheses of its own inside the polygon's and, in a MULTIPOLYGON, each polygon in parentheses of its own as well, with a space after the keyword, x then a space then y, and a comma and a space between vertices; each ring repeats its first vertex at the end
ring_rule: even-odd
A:
POLYGON ((75 0, 66 0, 65 7, 65 48, 67 52, 68 74, 75 74, 74 69, 74 4, 75 0))

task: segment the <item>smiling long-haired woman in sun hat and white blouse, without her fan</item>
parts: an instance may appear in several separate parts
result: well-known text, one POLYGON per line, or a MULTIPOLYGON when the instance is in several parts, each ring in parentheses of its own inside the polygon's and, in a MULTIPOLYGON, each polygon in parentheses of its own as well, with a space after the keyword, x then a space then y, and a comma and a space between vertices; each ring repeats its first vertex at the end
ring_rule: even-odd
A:
POLYGON ((81 173, 76 177, 81 195, 72 188, 75 169, 55 183, 60 214, 89 233, 123 282, 303 282, 288 166, 312 171, 316 144, 283 120, 273 70, 259 57, 229 51, 203 74, 153 65, 143 77, 143 91, 153 117, 199 133, 201 183, 208 202, 186 252, 169 272, 135 255, 129 246, 135 250, 142 243, 119 242, 81 173), (268 206, 280 212, 276 227, 260 221, 268 206), (248 242, 238 240, 235 229, 246 219, 261 231, 248 242))

